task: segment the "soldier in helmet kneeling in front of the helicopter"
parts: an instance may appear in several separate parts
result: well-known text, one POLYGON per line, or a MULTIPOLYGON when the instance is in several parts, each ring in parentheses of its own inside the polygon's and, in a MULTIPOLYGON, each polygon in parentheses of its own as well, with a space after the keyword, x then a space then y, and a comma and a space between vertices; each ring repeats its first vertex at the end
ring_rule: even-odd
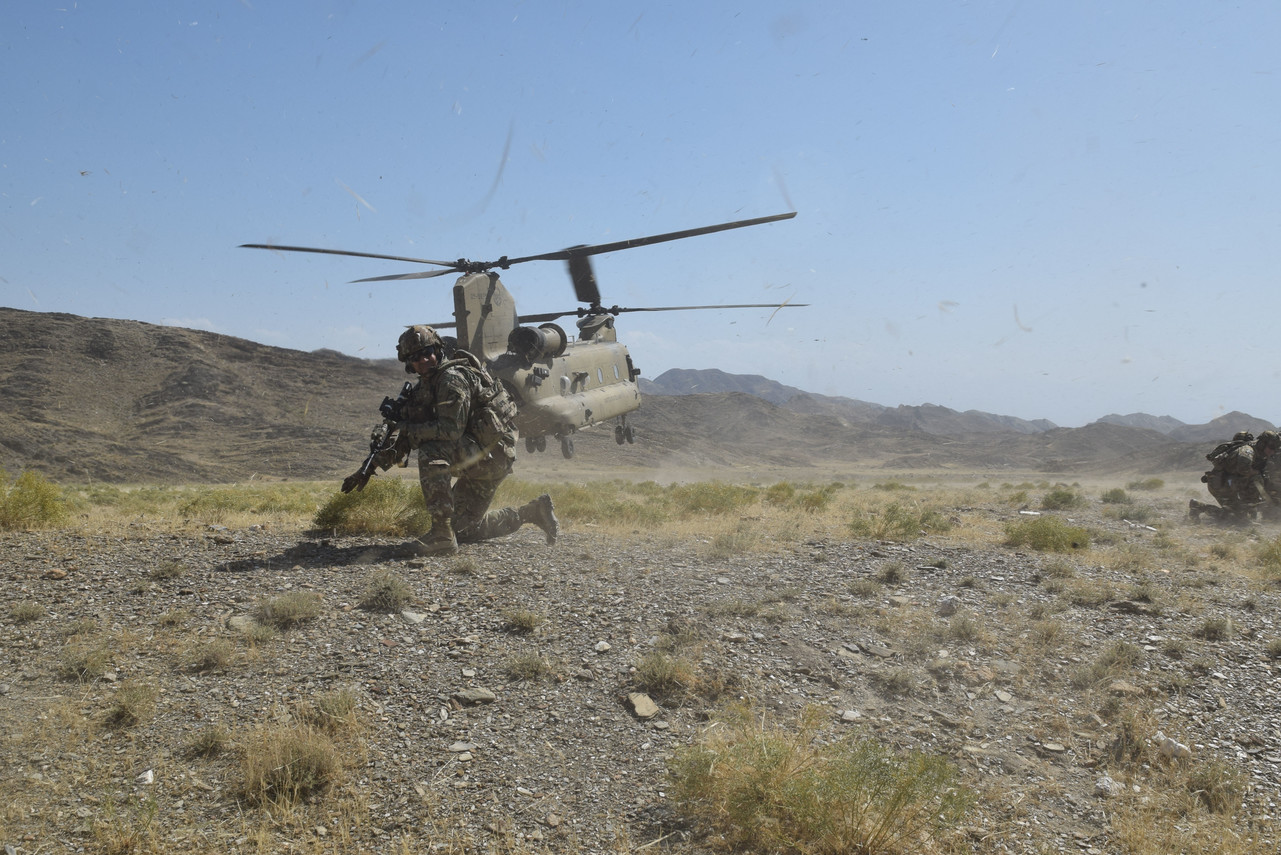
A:
MULTIPOLYGON (((502 383, 465 350, 446 358, 441 336, 424 324, 401 335, 396 356, 419 381, 406 399, 405 420, 396 426, 396 442, 377 465, 387 469, 418 450, 432 529, 411 544, 414 551, 448 555, 459 544, 510 535, 525 523, 555 544, 560 526, 547 494, 520 508, 489 510, 516 459, 516 405, 502 383)), ((364 486, 356 481, 359 473, 343 482, 343 492, 364 486)))

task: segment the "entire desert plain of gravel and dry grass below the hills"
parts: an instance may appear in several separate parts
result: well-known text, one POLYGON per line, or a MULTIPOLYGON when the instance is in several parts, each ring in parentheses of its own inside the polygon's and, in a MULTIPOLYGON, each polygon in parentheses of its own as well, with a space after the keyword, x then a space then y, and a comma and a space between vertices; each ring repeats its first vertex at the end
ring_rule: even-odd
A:
POLYGON ((279 485, 68 487, 0 533, 0 843, 863 851, 680 778, 781 733, 951 769, 963 815, 869 851, 1277 850, 1281 523, 1180 473, 628 474, 530 465, 557 542, 442 559, 279 485))

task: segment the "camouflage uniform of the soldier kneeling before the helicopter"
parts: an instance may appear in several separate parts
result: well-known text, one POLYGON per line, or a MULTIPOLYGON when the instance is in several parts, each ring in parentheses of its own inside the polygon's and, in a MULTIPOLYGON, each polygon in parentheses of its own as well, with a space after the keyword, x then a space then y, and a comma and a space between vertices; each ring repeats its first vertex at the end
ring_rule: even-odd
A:
POLYGON ((468 429, 480 378, 462 360, 452 360, 423 378, 405 405, 397 456, 418 449, 418 479, 432 518, 453 520, 460 544, 510 535, 520 528, 515 508, 489 510, 502 479, 516 459, 510 432, 489 447, 468 429), (451 478, 457 478, 450 486, 451 478))

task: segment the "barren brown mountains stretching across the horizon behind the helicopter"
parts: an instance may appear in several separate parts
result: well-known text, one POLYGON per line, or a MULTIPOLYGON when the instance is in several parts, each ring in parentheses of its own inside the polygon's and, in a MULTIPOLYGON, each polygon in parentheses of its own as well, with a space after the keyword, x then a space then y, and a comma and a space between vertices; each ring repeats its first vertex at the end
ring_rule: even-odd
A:
MULTIPOLYGON (((0 308, 0 469, 117 483, 341 478, 365 456, 378 403, 405 381, 391 359, 302 353, 199 329, 0 308)), ((840 472, 1071 477, 1184 473, 1240 429, 1107 415, 1081 428, 945 406, 812 395, 765 377, 674 369, 640 379, 638 440, 583 431, 576 454, 518 449, 523 476, 628 469, 653 478, 816 478, 840 472)))

